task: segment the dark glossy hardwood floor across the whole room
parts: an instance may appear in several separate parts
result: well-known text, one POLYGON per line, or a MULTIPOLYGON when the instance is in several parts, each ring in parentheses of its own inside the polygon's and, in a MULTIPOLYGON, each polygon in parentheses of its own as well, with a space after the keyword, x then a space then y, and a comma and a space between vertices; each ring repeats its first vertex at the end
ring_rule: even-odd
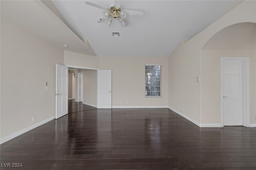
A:
POLYGON ((256 128, 200 128, 164 108, 72 107, 0 145, 1 170, 256 170, 256 128))

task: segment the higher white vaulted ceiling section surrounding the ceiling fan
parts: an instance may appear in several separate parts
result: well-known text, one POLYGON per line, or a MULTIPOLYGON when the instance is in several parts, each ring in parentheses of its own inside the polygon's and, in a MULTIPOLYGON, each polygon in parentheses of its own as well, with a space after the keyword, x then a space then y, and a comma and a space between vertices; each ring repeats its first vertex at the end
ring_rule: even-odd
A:
POLYGON ((112 27, 97 23, 99 8, 86 1, 109 7, 114 0, 53 0, 70 28, 88 39, 100 57, 168 57, 182 39, 190 39, 218 20, 233 0, 122 0, 122 9, 143 10, 144 16, 127 16, 127 27, 118 20, 112 27), (120 37, 112 37, 119 32, 120 37))

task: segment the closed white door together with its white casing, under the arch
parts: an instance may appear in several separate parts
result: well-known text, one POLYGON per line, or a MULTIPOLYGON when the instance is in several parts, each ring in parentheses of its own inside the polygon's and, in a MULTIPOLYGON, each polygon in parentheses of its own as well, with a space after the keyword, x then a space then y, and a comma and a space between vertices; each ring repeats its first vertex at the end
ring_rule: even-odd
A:
POLYGON ((221 57, 221 126, 250 125, 249 58, 221 57))

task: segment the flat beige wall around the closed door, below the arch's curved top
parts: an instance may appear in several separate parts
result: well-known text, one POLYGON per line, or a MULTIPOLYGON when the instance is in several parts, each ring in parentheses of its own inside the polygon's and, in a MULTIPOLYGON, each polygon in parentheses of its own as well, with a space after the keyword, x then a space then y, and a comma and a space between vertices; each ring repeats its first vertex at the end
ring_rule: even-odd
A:
POLYGON ((250 123, 256 123, 256 51, 202 50, 202 123, 220 123, 220 57, 250 57, 250 123))

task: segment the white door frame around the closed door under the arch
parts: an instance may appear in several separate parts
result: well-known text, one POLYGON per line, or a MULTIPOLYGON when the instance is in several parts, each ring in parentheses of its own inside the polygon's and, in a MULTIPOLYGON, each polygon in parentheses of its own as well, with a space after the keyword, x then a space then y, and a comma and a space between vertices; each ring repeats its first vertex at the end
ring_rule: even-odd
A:
POLYGON ((250 57, 220 57, 220 125, 224 127, 224 106, 223 106, 223 77, 224 61, 242 62, 242 106, 243 106, 243 126, 250 126, 250 57))

